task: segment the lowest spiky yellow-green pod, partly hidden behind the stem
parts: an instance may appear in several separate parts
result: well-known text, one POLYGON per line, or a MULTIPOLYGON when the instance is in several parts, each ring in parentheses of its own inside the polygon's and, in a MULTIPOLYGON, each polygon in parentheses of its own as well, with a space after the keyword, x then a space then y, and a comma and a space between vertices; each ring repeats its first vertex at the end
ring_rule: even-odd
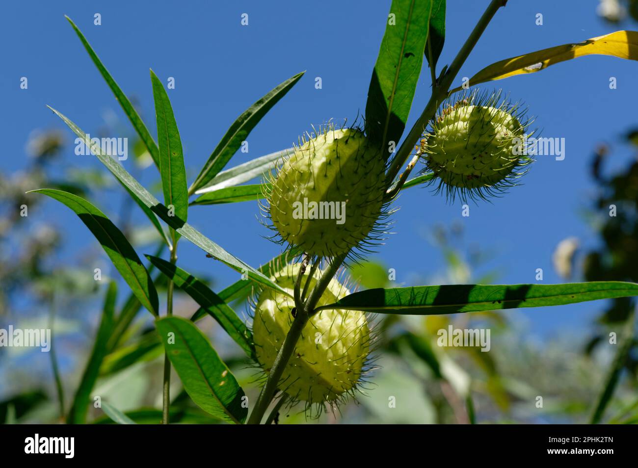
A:
MULTIPOLYGON (((274 275, 281 288, 292 295, 300 265, 286 265, 274 275)), ((313 288, 318 275, 310 281, 313 288)), ((349 291, 332 279, 318 306, 336 302, 349 291)), ((256 358, 269 372, 279 348, 293 321, 292 298, 273 289, 265 289, 258 296, 253 318, 253 339, 256 358)), ((293 399, 308 403, 334 402, 345 395, 353 395, 369 354, 370 330, 367 317, 359 311, 322 310, 312 316, 286 365, 278 388, 293 399)))

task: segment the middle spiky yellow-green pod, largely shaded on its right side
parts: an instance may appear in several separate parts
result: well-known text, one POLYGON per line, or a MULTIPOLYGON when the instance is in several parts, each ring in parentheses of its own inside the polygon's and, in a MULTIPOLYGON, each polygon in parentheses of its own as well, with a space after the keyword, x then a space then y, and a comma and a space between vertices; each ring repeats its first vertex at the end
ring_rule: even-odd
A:
POLYGON ((357 129, 334 126, 299 143, 266 193, 280 240, 321 257, 378 240, 385 194, 378 147, 357 129))

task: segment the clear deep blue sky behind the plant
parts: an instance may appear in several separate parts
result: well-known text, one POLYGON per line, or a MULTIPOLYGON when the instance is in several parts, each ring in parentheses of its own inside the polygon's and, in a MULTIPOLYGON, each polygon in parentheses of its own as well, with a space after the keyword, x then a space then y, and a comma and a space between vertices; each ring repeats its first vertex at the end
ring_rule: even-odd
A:
MULTIPOLYGON (((448 3, 440 66, 452 60, 488 2, 448 3)), ((510 0, 461 69, 459 80, 500 59, 622 29, 600 20, 595 15, 597 4, 597 0, 510 0), (544 15, 543 26, 535 24, 537 13, 544 15)), ((26 165, 24 145, 34 128, 66 131, 47 104, 89 133, 97 133, 108 112, 115 112, 128 126, 64 14, 82 29, 124 92, 140 99, 153 135, 149 68, 164 82, 175 77, 175 89, 168 93, 192 182, 235 117, 299 71, 307 70, 305 77, 251 133, 249 153, 237 154, 231 165, 289 147, 311 124, 328 119, 353 121, 357 112, 364 112, 389 5, 390 1, 6 2, 0 19, 4 45, 1 168, 14 172, 26 165), (94 13, 101 13, 101 26, 93 25, 94 13), (248 13, 248 27, 241 26, 241 13, 248 13), (20 77, 28 78, 29 89, 20 89, 20 77), (322 78, 323 89, 315 89, 315 77, 322 78)), ((635 25, 625 26, 632 29, 635 25)), ((443 260, 423 233, 434 223, 461 221, 467 242, 495 252, 485 270, 501 268, 498 282, 534 282, 536 268, 544 269, 544 282, 560 282, 551 265, 556 244, 571 235, 581 238, 584 245, 597 242, 579 215, 595 189, 588 165, 598 142, 618 143, 619 135, 635 123, 637 70, 636 62, 590 56, 534 75, 494 82, 490 88, 502 87, 530 106, 544 136, 565 138, 565 160, 540 157, 524 177, 523 186, 493 204, 471 205, 469 218, 461 217, 459 201, 450 205, 428 189, 404 192, 398 202, 401 210, 394 216, 396 234, 376 258, 396 268, 399 282, 414 275, 428 277, 440 271, 443 260), (618 89, 609 89, 609 77, 617 78, 618 89)), ((408 128, 429 96, 427 66, 423 71, 408 128)), ((70 131, 66 134, 72 142, 70 131)), ((618 168, 626 163, 630 149, 618 146, 612 154, 610 167, 618 168)), ((75 156, 73 145, 68 145, 63 160, 100 167, 92 157, 75 156)), ((127 165, 132 164, 132 159, 124 162, 129 169, 127 165)), ((142 182, 148 186, 156 180, 154 168, 148 168, 142 182)), ((112 191, 108 198, 94 201, 115 216, 121 197, 121 192, 112 191)), ((269 231, 256 220, 258 213, 255 202, 192 207, 189 223, 242 260, 259 265, 280 247, 262 238, 269 231)), ((74 258, 97 245, 77 216, 54 201, 30 212, 31 217, 64 226, 71 243, 60 258, 74 258)), ((150 251, 149 247, 144 252, 150 251)), ((219 286, 238 278, 186 240, 179 245, 179 263, 191 272, 214 276, 219 286)), ((602 306, 584 303, 509 313, 525 314, 531 331, 545 334, 587 326, 602 306)))

